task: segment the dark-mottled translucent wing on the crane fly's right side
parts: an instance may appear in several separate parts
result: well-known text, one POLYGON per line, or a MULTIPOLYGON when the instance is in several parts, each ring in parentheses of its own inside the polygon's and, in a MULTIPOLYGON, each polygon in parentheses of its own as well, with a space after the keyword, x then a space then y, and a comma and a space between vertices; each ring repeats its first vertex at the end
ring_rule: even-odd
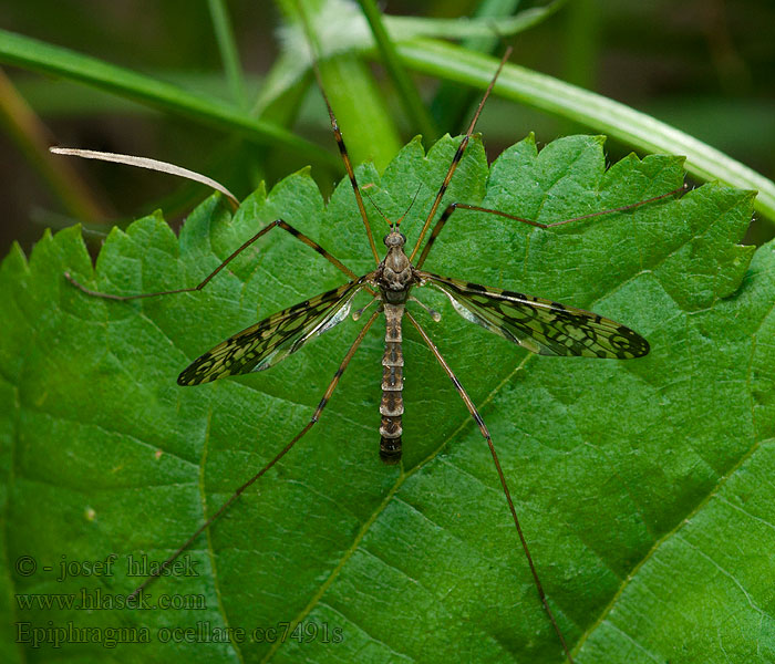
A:
POLYGON ((442 290, 464 319, 534 353, 630 360, 649 352, 640 334, 597 313, 430 272, 421 277, 442 290))

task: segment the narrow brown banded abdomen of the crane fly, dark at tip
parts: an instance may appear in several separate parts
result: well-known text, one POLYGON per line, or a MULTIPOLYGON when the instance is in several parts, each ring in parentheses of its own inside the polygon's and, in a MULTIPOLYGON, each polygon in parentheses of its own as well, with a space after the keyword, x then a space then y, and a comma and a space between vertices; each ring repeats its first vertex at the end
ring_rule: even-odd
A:
POLYGON ((385 354, 382 356, 382 402, 380 414, 380 458, 385 464, 401 460, 401 416, 404 413, 404 354, 401 347, 403 304, 384 303, 385 354))

